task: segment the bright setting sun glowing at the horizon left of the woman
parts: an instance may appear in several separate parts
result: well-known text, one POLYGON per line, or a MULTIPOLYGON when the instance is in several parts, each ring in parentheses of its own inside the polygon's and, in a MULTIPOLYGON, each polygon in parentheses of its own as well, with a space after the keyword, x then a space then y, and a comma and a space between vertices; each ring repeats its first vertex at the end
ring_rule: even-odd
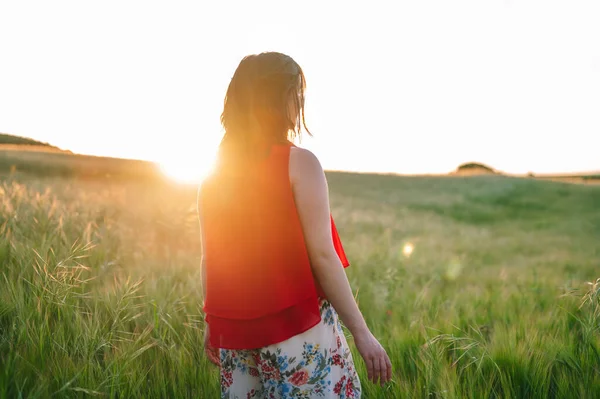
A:
POLYGON ((198 184, 213 168, 214 157, 173 156, 158 162, 160 170, 169 178, 182 184, 198 184))

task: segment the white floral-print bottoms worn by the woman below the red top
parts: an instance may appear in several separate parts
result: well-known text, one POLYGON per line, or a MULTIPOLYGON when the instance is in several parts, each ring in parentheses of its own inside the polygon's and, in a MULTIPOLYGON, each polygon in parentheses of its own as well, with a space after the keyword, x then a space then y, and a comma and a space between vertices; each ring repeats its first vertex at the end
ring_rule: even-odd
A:
POLYGON ((221 349, 221 398, 360 398, 352 354, 333 306, 321 322, 260 349, 221 349))

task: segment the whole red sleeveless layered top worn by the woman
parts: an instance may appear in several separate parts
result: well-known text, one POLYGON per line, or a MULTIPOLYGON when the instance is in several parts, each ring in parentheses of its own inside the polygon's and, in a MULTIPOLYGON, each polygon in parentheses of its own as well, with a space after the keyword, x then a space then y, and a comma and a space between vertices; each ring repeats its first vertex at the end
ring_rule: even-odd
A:
MULTIPOLYGON (((216 172, 199 191, 211 345, 254 349, 318 324, 319 297, 289 178, 289 145, 239 174, 216 172)), ((332 239, 349 265, 331 217, 332 239)))

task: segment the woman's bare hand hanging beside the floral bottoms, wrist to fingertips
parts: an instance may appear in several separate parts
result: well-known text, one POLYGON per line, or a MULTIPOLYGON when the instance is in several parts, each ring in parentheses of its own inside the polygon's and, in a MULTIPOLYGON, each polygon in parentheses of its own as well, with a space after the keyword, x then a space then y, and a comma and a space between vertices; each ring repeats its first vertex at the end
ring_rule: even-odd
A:
POLYGON ((392 363, 383 346, 369 330, 354 335, 354 344, 367 366, 369 380, 383 386, 392 379, 392 363))

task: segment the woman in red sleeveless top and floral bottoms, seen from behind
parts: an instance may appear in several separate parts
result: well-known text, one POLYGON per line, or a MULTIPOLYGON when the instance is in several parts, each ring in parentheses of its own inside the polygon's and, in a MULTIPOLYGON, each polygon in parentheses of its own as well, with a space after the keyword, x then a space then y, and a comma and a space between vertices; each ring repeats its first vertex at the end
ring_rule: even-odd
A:
POLYGON ((224 398, 360 397, 338 314, 369 379, 391 378, 344 271, 323 169, 290 141, 306 129, 304 89, 289 56, 245 57, 225 97, 219 162, 199 190, 205 352, 224 398))

